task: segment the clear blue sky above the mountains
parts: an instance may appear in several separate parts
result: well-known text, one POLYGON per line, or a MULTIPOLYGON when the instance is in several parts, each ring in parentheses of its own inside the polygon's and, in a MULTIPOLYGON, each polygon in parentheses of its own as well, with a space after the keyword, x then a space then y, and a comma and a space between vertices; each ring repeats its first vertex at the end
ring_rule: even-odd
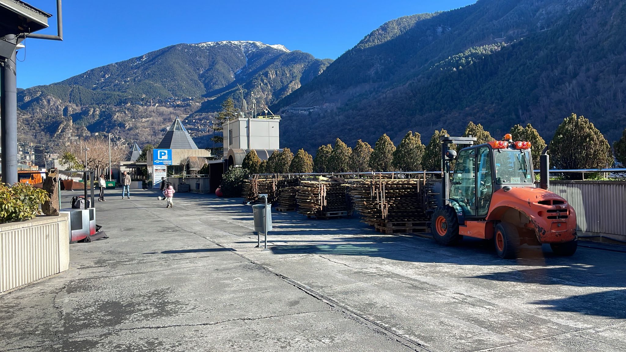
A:
MULTIPOLYGON (((54 0, 25 0, 55 14, 54 0)), ((168 45, 220 40, 283 44, 336 59, 382 23, 460 8, 476 0, 64 0, 64 41, 26 39, 18 87, 62 81, 168 45)), ((39 33, 56 34, 51 28, 39 33)))

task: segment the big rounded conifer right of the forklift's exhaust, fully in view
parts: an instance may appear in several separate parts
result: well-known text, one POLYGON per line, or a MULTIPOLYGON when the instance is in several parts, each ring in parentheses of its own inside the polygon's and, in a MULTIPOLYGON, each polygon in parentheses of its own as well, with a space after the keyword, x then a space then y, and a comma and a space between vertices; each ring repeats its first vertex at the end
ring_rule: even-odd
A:
POLYGON ((613 163, 611 146, 602 133, 574 113, 557 127, 548 150, 555 168, 605 168, 613 163))

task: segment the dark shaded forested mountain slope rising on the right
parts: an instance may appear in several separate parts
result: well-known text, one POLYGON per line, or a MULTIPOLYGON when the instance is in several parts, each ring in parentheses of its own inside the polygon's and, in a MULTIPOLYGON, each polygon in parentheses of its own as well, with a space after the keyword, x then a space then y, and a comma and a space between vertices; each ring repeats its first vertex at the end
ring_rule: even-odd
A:
POLYGON ((626 4, 479 0, 383 24, 274 107, 282 145, 314 152, 408 130, 424 142, 468 121, 492 135, 532 123, 546 140, 585 115, 609 140, 626 126, 626 4))

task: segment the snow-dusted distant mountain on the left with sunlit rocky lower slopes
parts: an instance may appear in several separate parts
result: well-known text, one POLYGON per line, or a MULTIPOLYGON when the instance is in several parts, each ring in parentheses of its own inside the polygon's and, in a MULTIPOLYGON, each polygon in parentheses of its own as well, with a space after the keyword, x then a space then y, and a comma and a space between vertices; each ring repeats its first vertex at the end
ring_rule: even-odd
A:
POLYGON ((54 139, 112 132, 128 142, 155 143, 175 116, 192 115, 185 124, 206 132, 210 113, 229 96, 239 103, 243 91, 260 110, 331 62, 259 41, 172 45, 19 91, 18 128, 54 139))

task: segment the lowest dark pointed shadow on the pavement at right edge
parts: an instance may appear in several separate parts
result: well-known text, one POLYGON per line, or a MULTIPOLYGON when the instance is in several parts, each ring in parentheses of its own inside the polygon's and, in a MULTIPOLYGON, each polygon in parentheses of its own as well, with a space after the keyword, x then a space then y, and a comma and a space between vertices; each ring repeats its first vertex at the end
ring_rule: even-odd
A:
POLYGON ((550 311, 573 312, 587 315, 626 319, 626 289, 594 292, 560 299, 535 301, 550 311))

